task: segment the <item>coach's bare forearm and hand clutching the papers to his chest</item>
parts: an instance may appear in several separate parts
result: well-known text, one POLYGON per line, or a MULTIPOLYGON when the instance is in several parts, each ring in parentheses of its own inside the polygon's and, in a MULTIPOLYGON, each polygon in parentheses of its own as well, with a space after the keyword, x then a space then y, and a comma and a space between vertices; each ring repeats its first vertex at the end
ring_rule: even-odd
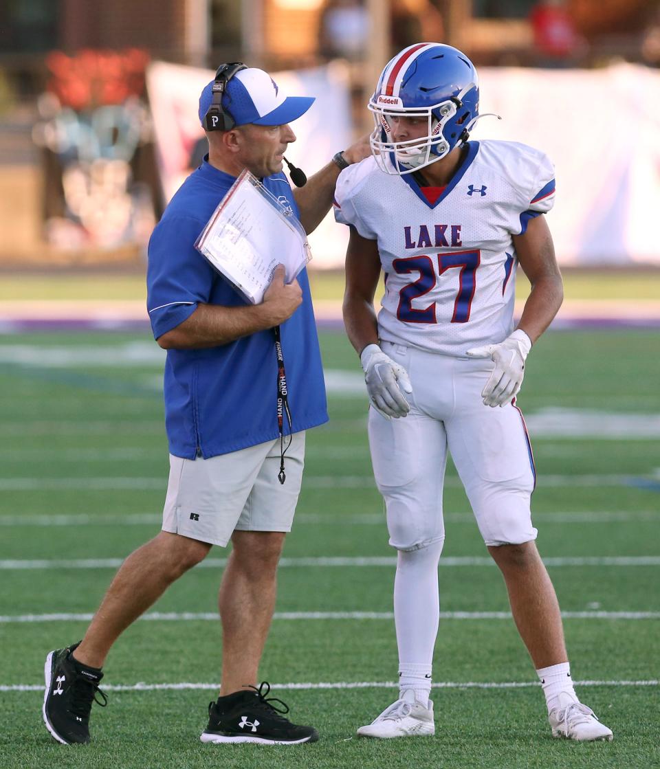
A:
POLYGON ((164 350, 217 347, 279 325, 291 318, 302 302, 298 281, 286 284, 284 278, 285 268, 279 265, 260 305, 198 305, 183 323, 158 337, 158 345, 164 350))

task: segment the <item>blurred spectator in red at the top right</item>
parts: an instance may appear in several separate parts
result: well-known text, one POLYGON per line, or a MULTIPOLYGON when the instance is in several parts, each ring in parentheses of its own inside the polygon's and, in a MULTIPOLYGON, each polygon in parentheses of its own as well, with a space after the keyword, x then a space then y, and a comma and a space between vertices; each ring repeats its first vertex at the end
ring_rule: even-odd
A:
POLYGON ((541 0, 532 8, 529 22, 539 65, 570 67, 585 54, 585 40, 564 0, 541 0))

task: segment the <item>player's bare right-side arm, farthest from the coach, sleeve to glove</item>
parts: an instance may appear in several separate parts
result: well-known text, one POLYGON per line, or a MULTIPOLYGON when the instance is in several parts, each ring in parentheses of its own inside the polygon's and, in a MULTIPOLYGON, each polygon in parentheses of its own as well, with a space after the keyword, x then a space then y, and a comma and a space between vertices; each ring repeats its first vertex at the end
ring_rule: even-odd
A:
POLYGON ((518 328, 534 343, 557 315, 564 300, 562 273, 545 216, 529 221, 524 235, 514 235, 513 245, 522 271, 532 284, 518 328))

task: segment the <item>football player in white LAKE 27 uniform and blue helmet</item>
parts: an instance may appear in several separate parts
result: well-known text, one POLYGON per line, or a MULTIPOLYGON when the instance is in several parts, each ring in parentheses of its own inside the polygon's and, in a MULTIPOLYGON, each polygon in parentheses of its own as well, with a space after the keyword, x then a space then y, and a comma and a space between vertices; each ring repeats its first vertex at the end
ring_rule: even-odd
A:
POLYGON ((375 480, 398 551, 399 696, 358 734, 435 732, 429 694, 450 451, 504 576, 552 735, 612 740, 573 688, 557 598, 535 545, 534 459, 515 404, 525 359, 562 304, 544 216, 554 169, 526 145, 468 141, 478 102, 478 75, 462 52, 405 48, 368 105, 372 157, 342 171, 335 191, 335 218, 350 227, 345 327, 365 371, 375 480), (516 326, 518 265, 532 289, 516 326))

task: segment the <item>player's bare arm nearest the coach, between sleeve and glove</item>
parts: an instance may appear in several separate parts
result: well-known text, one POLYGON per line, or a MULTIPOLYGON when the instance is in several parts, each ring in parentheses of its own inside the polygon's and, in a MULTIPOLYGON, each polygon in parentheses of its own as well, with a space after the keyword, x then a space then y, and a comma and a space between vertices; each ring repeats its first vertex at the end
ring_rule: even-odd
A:
POLYGON ((358 355, 367 345, 378 345, 374 295, 381 275, 376 241, 367 240, 352 227, 346 249, 344 325, 358 355))

